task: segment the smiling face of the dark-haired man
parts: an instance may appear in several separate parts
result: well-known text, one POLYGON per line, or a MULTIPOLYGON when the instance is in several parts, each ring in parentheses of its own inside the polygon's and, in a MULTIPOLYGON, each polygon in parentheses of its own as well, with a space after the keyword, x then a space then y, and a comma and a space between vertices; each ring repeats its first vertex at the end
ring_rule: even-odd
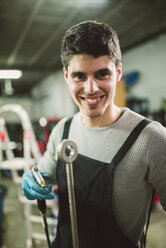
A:
POLYGON ((121 72, 121 65, 116 68, 108 56, 94 58, 79 54, 72 57, 67 70, 64 69, 64 76, 84 122, 110 118, 121 72))

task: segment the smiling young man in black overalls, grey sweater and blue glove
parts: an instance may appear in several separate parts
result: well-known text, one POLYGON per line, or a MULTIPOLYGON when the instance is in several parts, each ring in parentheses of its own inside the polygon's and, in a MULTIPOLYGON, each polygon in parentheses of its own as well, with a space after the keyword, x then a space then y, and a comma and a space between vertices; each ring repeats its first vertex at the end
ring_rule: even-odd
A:
MULTIPOLYGON (((154 189, 166 210, 166 130, 115 105, 122 65, 111 27, 96 21, 71 27, 61 58, 80 112, 54 128, 39 164, 59 185, 58 230, 52 247, 72 247, 65 165, 56 152, 61 140, 69 138, 79 152, 73 163, 79 247, 143 248, 154 189)), ((53 197, 50 186, 41 189, 30 172, 23 175, 22 189, 28 199, 53 197)))

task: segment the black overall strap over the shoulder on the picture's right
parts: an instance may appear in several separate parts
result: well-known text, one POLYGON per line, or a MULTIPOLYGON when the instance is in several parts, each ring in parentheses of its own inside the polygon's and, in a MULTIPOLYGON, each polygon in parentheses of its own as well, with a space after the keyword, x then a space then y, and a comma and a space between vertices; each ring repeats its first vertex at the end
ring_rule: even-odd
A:
POLYGON ((116 155, 113 157, 111 161, 111 166, 114 168, 125 156, 131 146, 134 144, 138 136, 140 135, 141 131, 150 123, 151 121, 148 119, 143 119, 138 123, 138 125, 132 130, 129 134, 121 148, 118 150, 116 155))

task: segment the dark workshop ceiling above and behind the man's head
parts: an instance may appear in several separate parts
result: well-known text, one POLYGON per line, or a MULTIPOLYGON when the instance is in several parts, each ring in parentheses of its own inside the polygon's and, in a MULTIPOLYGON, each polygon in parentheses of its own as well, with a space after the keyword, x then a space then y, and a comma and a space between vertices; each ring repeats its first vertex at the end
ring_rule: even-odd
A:
MULTIPOLYGON (((166 33, 165 0, 0 0, 0 69, 21 69, 14 94, 29 95, 34 85, 62 68, 65 30, 84 20, 109 23, 122 52, 166 33)), ((0 79, 0 96, 5 96, 0 79)))

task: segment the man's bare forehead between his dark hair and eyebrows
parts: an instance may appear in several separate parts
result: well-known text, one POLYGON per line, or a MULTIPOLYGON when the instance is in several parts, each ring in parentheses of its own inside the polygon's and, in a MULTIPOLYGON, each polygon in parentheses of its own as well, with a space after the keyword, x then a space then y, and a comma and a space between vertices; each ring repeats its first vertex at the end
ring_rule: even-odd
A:
POLYGON ((115 68, 115 63, 108 56, 100 56, 94 58, 88 54, 74 55, 69 63, 68 71, 94 72, 107 68, 112 70, 115 68))

